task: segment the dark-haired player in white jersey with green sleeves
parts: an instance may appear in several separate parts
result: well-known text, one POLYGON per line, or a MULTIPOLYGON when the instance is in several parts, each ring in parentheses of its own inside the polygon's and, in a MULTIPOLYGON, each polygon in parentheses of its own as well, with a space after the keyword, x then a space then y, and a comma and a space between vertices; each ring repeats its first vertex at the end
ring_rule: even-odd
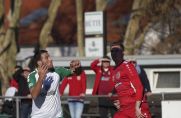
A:
POLYGON ((63 118, 60 81, 75 69, 54 68, 46 50, 35 55, 36 69, 28 76, 28 86, 33 99, 31 118, 63 118))

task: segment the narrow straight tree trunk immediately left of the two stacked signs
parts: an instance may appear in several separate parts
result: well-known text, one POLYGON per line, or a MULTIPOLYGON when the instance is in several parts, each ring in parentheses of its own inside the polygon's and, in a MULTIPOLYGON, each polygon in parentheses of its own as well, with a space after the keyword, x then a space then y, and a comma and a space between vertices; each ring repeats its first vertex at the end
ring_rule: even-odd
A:
POLYGON ((77 44, 79 56, 84 56, 84 36, 83 36, 83 8, 82 0, 76 0, 76 13, 77 13, 77 44))

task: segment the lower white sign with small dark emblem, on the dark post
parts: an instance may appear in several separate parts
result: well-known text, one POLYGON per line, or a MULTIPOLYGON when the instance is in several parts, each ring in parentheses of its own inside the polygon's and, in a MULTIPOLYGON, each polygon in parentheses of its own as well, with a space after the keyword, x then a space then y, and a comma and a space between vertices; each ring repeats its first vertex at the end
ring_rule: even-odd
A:
POLYGON ((85 39, 85 56, 102 57, 103 56, 103 38, 93 37, 85 39))

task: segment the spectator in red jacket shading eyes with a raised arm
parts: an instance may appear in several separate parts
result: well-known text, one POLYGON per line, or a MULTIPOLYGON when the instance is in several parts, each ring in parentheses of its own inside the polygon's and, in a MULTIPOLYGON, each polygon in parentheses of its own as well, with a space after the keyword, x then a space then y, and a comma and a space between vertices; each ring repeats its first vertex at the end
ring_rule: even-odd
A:
MULTIPOLYGON (((92 95, 108 95, 114 88, 111 78, 113 68, 110 66, 110 58, 104 56, 102 59, 96 59, 91 63, 91 69, 96 73, 92 95), (101 63, 101 66, 98 64, 101 63)), ((99 98, 99 113, 101 118, 108 118, 108 113, 113 116, 115 112, 114 105, 109 98, 99 98)))

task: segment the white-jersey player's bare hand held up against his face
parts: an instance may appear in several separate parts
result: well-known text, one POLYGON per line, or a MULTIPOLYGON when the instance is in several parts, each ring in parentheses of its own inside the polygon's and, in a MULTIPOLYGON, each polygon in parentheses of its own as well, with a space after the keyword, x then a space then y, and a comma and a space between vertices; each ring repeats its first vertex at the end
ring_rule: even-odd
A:
POLYGON ((38 75, 41 80, 45 79, 46 73, 48 72, 48 66, 45 64, 40 63, 38 65, 38 75))

